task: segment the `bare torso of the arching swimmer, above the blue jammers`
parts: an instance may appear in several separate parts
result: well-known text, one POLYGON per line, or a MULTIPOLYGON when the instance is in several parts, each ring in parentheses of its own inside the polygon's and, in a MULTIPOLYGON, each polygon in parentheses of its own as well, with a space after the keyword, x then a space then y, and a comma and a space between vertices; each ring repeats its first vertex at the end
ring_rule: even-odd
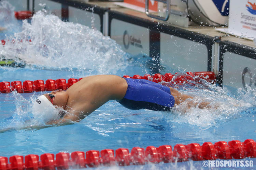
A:
POLYGON ((91 113, 109 100, 120 100, 125 96, 127 83, 116 75, 93 75, 81 79, 68 90, 67 105, 91 113))

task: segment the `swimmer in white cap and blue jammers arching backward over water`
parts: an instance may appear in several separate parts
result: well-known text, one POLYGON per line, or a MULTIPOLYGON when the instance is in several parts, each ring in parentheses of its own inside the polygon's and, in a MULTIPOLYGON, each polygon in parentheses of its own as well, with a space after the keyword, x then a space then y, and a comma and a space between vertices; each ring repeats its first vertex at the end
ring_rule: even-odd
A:
MULTIPOLYGON (((116 100, 129 109, 170 111, 193 97, 144 79, 122 78, 117 75, 93 75, 81 79, 68 90, 56 90, 40 96, 33 104, 34 117, 47 124, 81 121, 109 100, 116 100), (62 110, 62 111, 61 111, 62 110), (64 111, 65 110, 65 111, 64 111)), ((209 102, 190 103, 188 107, 208 107, 209 102)))

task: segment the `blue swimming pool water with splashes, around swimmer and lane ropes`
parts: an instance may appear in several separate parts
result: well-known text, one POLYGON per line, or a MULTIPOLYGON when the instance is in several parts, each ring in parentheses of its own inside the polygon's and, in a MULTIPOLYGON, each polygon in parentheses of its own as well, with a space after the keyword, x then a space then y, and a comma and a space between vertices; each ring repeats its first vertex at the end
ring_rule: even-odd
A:
MULTIPOLYGON (((0 54, 26 63, 26 67, 0 67, 0 82, 152 73, 150 57, 123 52, 115 41, 97 30, 62 22, 43 12, 36 14, 31 24, 27 21, 17 24, 17 28, 23 27, 22 31, 5 37, 7 41, 5 46, 0 46, 0 54)), ((185 70, 163 66, 160 73, 176 71, 185 70)), ((248 88, 245 92, 206 85, 207 88, 182 86, 179 89, 206 98, 213 105, 219 104, 218 109, 191 108, 184 113, 186 108, 181 105, 171 112, 131 111, 110 101, 79 123, 48 128, 40 124, 40 120, 31 119, 32 101, 43 92, 0 94, 0 130, 5 131, 0 133, 0 156, 255 140, 255 89, 248 88), (24 129, 27 126, 29 129, 24 129)), ((202 162, 123 168, 194 169, 202 168, 202 162)))

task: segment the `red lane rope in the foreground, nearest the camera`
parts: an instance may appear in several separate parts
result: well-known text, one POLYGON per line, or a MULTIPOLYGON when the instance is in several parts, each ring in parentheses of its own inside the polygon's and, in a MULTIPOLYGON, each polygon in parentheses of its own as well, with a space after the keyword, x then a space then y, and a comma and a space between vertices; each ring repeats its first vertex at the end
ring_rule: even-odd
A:
POLYGON ((60 152, 56 154, 45 153, 39 155, 26 155, 24 157, 14 155, 9 158, 0 156, 0 170, 38 170, 47 169, 70 169, 99 166, 129 166, 144 165, 147 163, 172 163, 185 162, 189 159, 215 160, 215 159, 243 159, 245 157, 256 157, 256 143, 253 139, 246 139, 244 142, 232 140, 228 143, 219 141, 214 143, 204 142, 202 146, 198 143, 189 145, 177 144, 173 150, 170 145, 163 145, 158 148, 148 146, 146 149, 134 147, 129 149, 119 148, 117 150, 104 149, 102 151, 89 150, 86 153, 75 151, 71 154, 60 152))

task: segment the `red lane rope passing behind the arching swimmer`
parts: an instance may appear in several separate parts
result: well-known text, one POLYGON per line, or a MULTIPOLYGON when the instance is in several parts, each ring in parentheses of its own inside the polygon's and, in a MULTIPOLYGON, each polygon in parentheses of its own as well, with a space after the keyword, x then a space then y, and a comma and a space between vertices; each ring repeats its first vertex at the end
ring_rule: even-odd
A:
MULTIPOLYGON (((124 75, 123 77, 150 80, 156 83, 161 83, 165 86, 182 85, 186 83, 196 85, 196 83, 200 83, 202 80, 213 83, 216 79, 215 74, 211 71, 175 73, 174 75, 171 73, 166 73, 165 75, 145 74, 143 77, 136 74, 133 75, 133 77, 129 77, 129 75, 124 75)), ((66 81, 66 79, 48 79, 45 81, 45 84, 43 80, 26 80, 23 83, 21 81, 1 82, 0 92, 11 93, 12 91, 16 90, 18 93, 31 93, 34 91, 52 91, 57 89, 67 90, 70 86, 80 81, 81 79, 82 78, 78 80, 70 78, 68 79, 68 82, 66 81)))

